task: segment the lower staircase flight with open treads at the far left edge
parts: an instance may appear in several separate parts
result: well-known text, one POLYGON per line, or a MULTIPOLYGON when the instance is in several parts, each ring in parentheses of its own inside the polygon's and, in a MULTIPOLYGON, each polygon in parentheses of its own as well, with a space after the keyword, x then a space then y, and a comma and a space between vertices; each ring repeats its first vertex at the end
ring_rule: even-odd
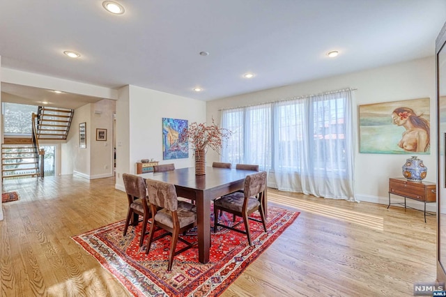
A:
POLYGON ((2 179, 39 176, 38 158, 38 151, 31 139, 29 139, 29 144, 2 144, 2 179))

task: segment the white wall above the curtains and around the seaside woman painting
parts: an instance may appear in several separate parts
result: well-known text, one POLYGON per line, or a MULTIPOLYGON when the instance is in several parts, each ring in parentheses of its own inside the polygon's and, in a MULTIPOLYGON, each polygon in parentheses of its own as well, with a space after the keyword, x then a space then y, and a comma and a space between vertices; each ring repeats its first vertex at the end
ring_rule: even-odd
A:
MULTIPOLYGON (((373 201, 387 204, 388 179, 403 177, 401 167, 410 155, 391 155, 359 153, 359 128, 357 127, 357 108, 359 105, 431 98, 431 154, 419 155, 428 168, 426 181, 436 182, 436 68, 433 56, 417 59, 392 66, 374 68, 347 75, 327 77, 311 82, 302 82, 277 89, 268 89, 256 93, 248 93, 207 102, 206 116, 211 116, 220 123, 222 108, 252 105, 272 100, 281 100, 293 96, 305 96, 344 89, 353 91, 356 105, 356 153, 355 153, 355 192, 356 198, 362 201, 373 201)), ((208 156, 218 160, 215 153, 208 156)), ((432 205, 431 208, 434 208, 432 205)))

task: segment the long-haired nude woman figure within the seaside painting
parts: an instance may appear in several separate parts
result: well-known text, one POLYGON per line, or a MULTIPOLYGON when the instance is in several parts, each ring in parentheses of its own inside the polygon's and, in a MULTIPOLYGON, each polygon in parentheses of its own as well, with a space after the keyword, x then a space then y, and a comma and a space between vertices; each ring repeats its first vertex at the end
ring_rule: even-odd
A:
POLYGON ((421 115, 418 116, 413 109, 408 107, 394 109, 392 121, 395 125, 403 126, 405 129, 398 142, 400 148, 414 153, 429 151, 431 130, 429 121, 421 115))

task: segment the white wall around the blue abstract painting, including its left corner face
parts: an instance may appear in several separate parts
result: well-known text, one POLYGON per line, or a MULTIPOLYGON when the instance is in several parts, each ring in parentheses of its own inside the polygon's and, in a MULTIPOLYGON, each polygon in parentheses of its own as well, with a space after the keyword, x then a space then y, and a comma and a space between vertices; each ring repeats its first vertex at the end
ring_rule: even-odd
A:
POLYGON ((139 86, 120 90, 116 105, 116 188, 119 190, 124 190, 121 174, 136 173, 136 162, 141 159, 174 163, 176 168, 193 166, 192 152, 187 159, 162 160, 162 118, 202 123, 206 121, 206 102, 139 86))

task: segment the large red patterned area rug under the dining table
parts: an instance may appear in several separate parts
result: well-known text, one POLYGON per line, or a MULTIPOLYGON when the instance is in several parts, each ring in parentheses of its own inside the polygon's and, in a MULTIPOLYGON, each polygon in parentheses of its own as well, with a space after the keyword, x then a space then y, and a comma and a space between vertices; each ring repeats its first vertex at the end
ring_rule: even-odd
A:
MULTIPOLYGON (((219 296, 298 215, 296 211, 268 206, 267 233, 261 223, 249 222, 252 246, 248 245, 245 234, 219 227, 217 233, 211 234, 207 264, 199 263, 198 250, 192 248, 174 258, 170 272, 167 264, 171 237, 155 241, 146 255, 146 241, 139 248, 141 223, 137 227, 130 226, 126 236, 123 236, 125 222, 120 221, 72 238, 133 296, 219 296)), ((252 216, 255 217, 254 213, 252 216)), ((223 213, 219 220, 233 224, 231 214, 223 213)), ((244 228, 243 224, 240 228, 244 228)), ((183 237, 187 241, 197 241, 196 232, 192 229, 183 237)), ((183 245, 178 241, 177 250, 183 245)))

